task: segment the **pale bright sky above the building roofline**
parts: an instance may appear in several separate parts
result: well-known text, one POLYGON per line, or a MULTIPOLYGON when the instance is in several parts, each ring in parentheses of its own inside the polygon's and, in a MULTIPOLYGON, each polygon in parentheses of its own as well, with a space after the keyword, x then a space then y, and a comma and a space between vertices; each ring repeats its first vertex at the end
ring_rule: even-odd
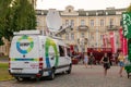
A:
POLYGON ((66 10, 67 5, 74 7, 74 10, 106 10, 106 8, 115 7, 115 9, 128 8, 131 0, 37 0, 38 10, 66 10))

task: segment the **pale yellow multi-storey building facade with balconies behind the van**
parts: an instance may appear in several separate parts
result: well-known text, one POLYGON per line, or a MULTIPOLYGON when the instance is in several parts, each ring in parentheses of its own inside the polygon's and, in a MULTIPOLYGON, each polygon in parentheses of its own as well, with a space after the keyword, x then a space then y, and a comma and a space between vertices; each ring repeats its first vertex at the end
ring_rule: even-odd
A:
MULTIPOLYGON (((122 12, 126 9, 107 8, 106 10, 85 11, 74 10, 68 5, 64 11, 59 11, 62 24, 70 26, 60 30, 57 36, 73 46, 78 52, 87 52, 87 48, 111 48, 109 33, 115 33, 117 48, 120 48, 119 28, 122 12), (107 38, 106 46, 104 37, 107 38)), ((47 29, 47 10, 37 10, 37 29, 47 29)))

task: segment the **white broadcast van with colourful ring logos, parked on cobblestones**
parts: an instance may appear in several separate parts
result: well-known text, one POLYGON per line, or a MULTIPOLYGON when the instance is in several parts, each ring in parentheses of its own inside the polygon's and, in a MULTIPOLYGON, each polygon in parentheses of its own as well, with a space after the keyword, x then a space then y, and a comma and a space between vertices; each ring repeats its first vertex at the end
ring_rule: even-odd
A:
POLYGON ((17 80, 55 78, 56 73, 71 73, 72 62, 62 39, 40 35, 39 30, 15 33, 9 55, 9 72, 17 80))

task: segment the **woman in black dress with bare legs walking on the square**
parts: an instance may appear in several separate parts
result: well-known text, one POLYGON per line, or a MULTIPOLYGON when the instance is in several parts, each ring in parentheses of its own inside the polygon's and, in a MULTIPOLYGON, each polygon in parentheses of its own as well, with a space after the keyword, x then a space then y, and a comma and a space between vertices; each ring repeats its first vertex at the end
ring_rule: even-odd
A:
POLYGON ((100 62, 104 64, 104 75, 107 75, 107 70, 110 69, 109 57, 107 53, 104 54, 100 62))

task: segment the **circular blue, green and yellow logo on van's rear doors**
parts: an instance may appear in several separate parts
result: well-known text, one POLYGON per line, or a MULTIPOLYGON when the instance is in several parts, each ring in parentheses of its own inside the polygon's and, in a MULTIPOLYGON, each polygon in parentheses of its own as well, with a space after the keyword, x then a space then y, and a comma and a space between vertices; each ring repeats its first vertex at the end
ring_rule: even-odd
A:
POLYGON ((34 47, 33 38, 31 38, 28 36, 22 36, 16 41, 16 49, 22 54, 26 54, 26 53, 31 52, 33 47, 34 47))

